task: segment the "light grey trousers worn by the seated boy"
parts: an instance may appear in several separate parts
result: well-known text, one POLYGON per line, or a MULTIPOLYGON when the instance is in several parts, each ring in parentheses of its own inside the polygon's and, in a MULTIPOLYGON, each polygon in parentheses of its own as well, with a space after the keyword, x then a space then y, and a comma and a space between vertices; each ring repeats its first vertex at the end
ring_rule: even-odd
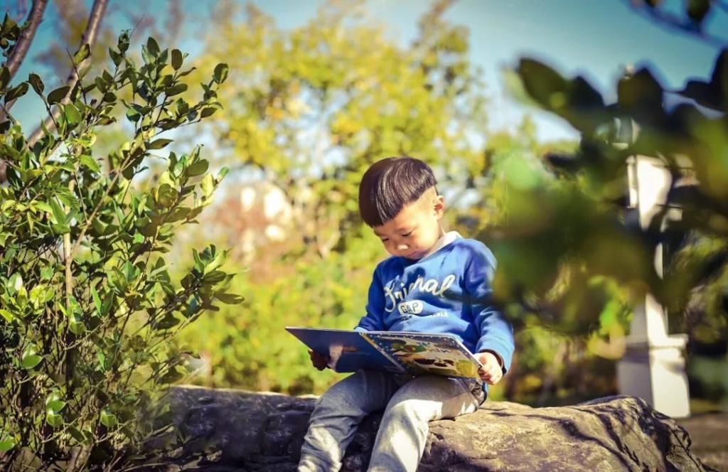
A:
POLYGON ((484 400, 483 388, 475 380, 358 371, 332 385, 316 402, 298 471, 339 471, 361 420, 381 409, 384 414, 368 470, 415 471, 428 422, 475 412, 484 400))

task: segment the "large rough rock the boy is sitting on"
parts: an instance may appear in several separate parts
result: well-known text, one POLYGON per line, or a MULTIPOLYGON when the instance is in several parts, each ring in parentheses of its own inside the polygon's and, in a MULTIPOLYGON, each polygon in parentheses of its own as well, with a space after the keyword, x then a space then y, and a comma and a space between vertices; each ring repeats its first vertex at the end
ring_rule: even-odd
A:
MULTIPOLYGON (((205 471, 295 471, 313 397, 175 388, 185 451, 215 452, 205 471)), ((342 471, 365 471, 379 425, 368 417, 342 471)), ((430 423, 419 471, 711 471, 684 428, 638 398, 531 408, 488 401, 474 414, 430 423)))

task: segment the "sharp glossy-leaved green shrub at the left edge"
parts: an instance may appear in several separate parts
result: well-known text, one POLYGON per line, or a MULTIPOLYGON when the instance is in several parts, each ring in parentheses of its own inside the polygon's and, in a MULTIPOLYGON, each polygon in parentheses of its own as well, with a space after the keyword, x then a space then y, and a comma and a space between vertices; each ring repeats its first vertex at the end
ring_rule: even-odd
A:
MULTIPOLYGON (((3 30, 3 34, 5 30, 3 30)), ((3 39, 5 41, 5 39, 3 39)), ((220 270, 226 253, 194 251, 194 266, 170 277, 163 255, 179 227, 208 205, 223 173, 207 173, 199 148, 161 154, 172 139, 159 134, 209 116, 227 67, 215 68, 196 103, 178 50, 150 38, 143 63, 127 55, 129 34, 109 50, 113 67, 47 93, 36 74, 13 87, 0 74, 9 101, 33 90, 50 113, 28 142, 15 119, 0 124, 0 465, 79 470, 119 467, 153 422, 155 400, 186 374, 189 353, 170 343, 177 331, 226 293, 232 275, 220 270), (119 98, 130 97, 127 100, 119 98), (94 154, 96 131, 126 113, 130 140, 108 156, 94 154), (140 192, 146 162, 164 172, 140 192), (104 170, 106 168, 106 170, 104 170)), ((87 57, 76 52, 76 67, 87 57)), ((148 176, 149 173, 146 173, 148 176)))

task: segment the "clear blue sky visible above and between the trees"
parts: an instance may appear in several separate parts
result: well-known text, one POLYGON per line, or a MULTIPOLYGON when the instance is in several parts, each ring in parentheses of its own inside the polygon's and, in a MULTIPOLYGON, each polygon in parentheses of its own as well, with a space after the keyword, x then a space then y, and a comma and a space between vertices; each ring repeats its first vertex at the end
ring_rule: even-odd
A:
MULTIPOLYGON (((141 0, 138 1, 142 5, 141 0)), ((183 2, 188 10, 191 31, 198 31, 205 20, 203 13, 213 0, 183 2), (197 23, 195 23, 197 22, 197 23)), ((91 0, 84 3, 92 4, 91 0)), ((253 3, 272 15, 282 28, 295 28, 314 17, 323 0, 256 0, 253 3)), ((111 14, 106 23, 114 29, 130 28, 124 15, 115 11, 119 0, 110 1, 111 14)), ((133 1, 132 1, 133 4, 133 1)), ((668 0, 668 7, 680 7, 680 0, 668 0)), ((124 5, 129 5, 125 3, 124 5)), ((166 2, 156 1, 148 10, 164 23, 166 2)), ((425 0, 369 0, 368 10, 373 17, 389 24, 392 38, 408 42, 416 34, 416 21, 430 2, 425 0)), ((728 12, 708 17, 708 31, 723 34, 728 47, 728 12)), ((493 129, 512 128, 524 113, 534 116, 539 138, 575 137, 573 130, 549 114, 526 109, 507 95, 502 71, 513 67, 519 57, 539 58, 572 76, 582 74, 610 98, 622 68, 627 64, 649 65, 663 84, 680 87, 692 76, 711 74, 719 48, 686 34, 660 27, 631 7, 628 0, 459 0, 448 9, 446 18, 467 26, 470 30, 472 61, 483 69, 490 101, 490 126, 493 129)), ((31 60, 53 41, 52 23, 58 21, 53 7, 40 25, 36 42, 28 54, 17 79, 25 79, 28 71, 38 70, 31 60)), ((188 29, 188 28, 186 28, 188 29)), ((200 49, 193 37, 184 39, 183 50, 200 49)), ((41 69, 41 72, 43 69, 41 69)), ((14 110, 22 122, 39 120, 43 115, 41 103, 33 98, 18 102, 14 110)), ((26 127, 29 127, 26 125, 26 127)))

